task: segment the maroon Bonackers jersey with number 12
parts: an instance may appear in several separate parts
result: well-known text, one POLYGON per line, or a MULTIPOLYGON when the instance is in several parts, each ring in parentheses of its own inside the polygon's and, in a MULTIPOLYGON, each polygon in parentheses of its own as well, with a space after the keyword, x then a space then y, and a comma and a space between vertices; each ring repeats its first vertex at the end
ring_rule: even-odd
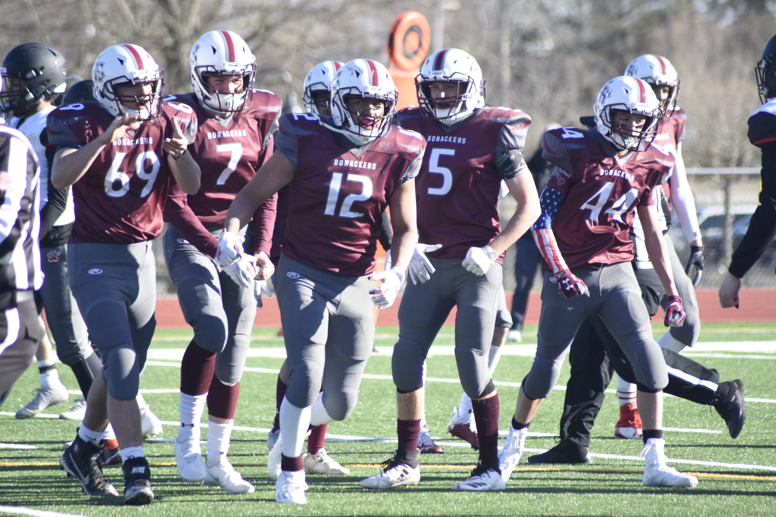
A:
POLYGON ((317 115, 282 115, 275 149, 294 171, 282 254, 349 277, 375 271, 380 214, 393 191, 417 175, 424 148, 420 135, 398 126, 355 147, 317 115))

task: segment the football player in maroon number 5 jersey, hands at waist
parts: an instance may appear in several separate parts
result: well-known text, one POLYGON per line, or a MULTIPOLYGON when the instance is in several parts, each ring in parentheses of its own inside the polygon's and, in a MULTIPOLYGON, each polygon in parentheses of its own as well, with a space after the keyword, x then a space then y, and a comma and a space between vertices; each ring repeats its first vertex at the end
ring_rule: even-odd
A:
POLYGON ((413 277, 422 274, 428 281, 408 283, 399 309, 399 341, 393 348, 398 450, 361 485, 390 488, 420 481, 424 360, 457 305, 456 362, 463 390, 472 399, 480 460, 469 478, 452 488, 501 490, 499 402, 490 343, 504 252, 539 216, 539 198, 521 153, 531 119, 517 110, 484 107, 480 66, 462 50, 431 54, 416 85, 420 106, 401 110, 397 123, 421 133, 428 145, 417 180, 421 243, 410 267, 413 277), (501 180, 518 202, 503 231, 497 212, 501 180))

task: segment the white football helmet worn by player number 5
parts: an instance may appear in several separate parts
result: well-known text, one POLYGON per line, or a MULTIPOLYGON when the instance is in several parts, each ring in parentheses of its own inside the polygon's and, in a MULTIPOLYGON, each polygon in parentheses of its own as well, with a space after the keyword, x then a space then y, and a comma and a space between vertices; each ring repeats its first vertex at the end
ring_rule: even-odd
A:
POLYGON ((421 67, 421 73, 415 78, 415 88, 421 114, 445 123, 456 122, 485 105, 485 80, 480 65, 468 52, 459 49, 432 53, 421 67), (431 97, 429 84, 447 81, 460 83, 456 98, 431 97), (451 101, 452 107, 439 107, 451 101))

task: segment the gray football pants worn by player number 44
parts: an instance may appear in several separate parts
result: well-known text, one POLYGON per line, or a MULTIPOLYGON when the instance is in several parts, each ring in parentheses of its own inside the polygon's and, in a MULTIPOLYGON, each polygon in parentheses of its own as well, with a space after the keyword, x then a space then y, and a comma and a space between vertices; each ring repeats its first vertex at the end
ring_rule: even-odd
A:
POLYGON ((577 267, 571 271, 587 284, 590 296, 563 298, 557 285, 550 281, 553 276, 545 272, 536 357, 522 384, 525 395, 532 399, 549 395, 577 329, 593 314, 601 317, 617 339, 639 384, 653 391, 665 388, 666 361, 652 339, 650 315, 631 264, 614 264, 598 270, 577 267))

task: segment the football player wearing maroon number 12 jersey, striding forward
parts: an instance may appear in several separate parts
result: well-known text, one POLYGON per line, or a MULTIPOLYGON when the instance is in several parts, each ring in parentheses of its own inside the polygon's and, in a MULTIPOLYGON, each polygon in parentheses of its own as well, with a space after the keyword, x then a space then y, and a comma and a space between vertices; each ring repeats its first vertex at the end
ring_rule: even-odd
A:
POLYGON ((237 230, 260 203, 291 185, 277 285, 289 365, 275 443, 282 450, 278 502, 307 502, 302 462, 307 429, 353 411, 374 340, 369 295, 383 308, 393 304, 417 242, 414 177, 425 143, 390 123, 396 100, 382 64, 357 59, 343 65, 331 84, 331 117, 282 115, 275 133, 279 152, 227 214, 219 251, 228 263, 241 251, 237 230), (372 274, 386 205, 393 267, 372 274), (375 288, 375 280, 383 284, 375 288))

